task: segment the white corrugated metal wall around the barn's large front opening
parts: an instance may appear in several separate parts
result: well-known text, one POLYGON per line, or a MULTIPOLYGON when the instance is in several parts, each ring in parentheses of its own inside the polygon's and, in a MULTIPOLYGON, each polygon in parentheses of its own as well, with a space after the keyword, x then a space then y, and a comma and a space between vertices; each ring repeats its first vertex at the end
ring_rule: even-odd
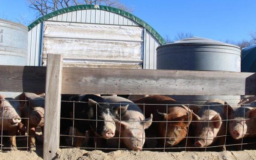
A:
MULTIPOLYGON (((73 12, 67 12, 55 17, 49 18, 49 21, 74 22, 74 23, 93 23, 93 24, 112 24, 125 26, 140 26, 135 21, 113 12, 99 9, 86 9, 73 12)), ((29 49, 28 65, 38 66, 41 62, 42 45, 42 23, 29 31, 29 49)), ((154 36, 146 31, 144 32, 144 69, 156 69, 156 48, 160 45, 154 36)))

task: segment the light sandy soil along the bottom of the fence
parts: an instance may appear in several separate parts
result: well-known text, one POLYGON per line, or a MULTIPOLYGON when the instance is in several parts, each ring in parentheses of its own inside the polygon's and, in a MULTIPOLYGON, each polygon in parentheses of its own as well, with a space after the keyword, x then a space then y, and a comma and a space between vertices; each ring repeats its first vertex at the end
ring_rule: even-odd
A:
MULTIPOLYGON (((0 153, 1 160, 41 160, 42 151, 9 151, 0 153)), ((222 152, 153 152, 153 151, 86 151, 77 148, 60 149, 58 160, 256 160, 256 150, 222 152)))

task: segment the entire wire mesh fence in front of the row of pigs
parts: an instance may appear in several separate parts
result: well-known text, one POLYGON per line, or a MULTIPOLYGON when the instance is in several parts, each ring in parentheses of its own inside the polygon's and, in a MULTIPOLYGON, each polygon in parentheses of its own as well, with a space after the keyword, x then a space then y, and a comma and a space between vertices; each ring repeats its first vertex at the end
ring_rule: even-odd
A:
MULTIPOLYGON (((31 116, 35 111, 31 104, 42 100, 0 100, 1 151, 42 148, 44 124, 32 124, 35 117, 31 116), (25 102, 28 109, 24 110, 20 102, 25 102)), ((61 105, 61 148, 134 151, 256 149, 256 105, 253 103, 191 105, 62 100, 61 105)), ((40 118, 41 122, 44 116, 40 118)))

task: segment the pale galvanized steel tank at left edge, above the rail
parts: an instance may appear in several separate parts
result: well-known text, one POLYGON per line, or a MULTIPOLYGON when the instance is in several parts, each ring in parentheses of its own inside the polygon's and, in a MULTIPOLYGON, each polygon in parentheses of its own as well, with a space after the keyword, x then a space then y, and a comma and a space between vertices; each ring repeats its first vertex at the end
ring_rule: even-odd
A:
POLYGON ((28 28, 0 19, 0 65, 27 65, 28 28))

